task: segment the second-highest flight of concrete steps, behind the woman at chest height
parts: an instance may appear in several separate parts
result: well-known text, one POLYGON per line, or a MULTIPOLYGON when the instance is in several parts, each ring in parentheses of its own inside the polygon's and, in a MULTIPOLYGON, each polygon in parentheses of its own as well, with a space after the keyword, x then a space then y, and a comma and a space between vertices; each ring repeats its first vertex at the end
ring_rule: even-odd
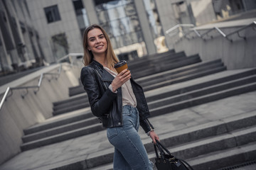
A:
MULTIPOLYGON (((165 72, 149 74, 145 77, 136 79, 142 85, 144 91, 160 88, 163 86, 176 84, 190 79, 196 79, 209 74, 222 72, 225 70, 223 62, 214 60, 210 62, 198 62, 189 64, 177 69, 170 69, 165 72)), ((77 87, 79 90, 85 91, 82 86, 77 87)), ((77 89, 77 90, 78 90, 77 89)), ((53 103, 53 115, 60 115, 68 111, 75 111, 80 108, 88 107, 87 94, 82 92, 79 96, 72 96, 64 101, 53 103)))

